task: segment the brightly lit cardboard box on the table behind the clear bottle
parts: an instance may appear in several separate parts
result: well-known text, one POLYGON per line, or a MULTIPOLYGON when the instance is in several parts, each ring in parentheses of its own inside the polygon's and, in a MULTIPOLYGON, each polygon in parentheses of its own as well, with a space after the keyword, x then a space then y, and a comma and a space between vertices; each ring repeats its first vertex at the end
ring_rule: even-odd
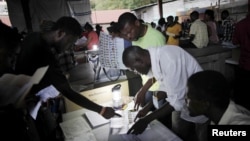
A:
MULTIPOLYGON (((112 102, 112 88, 117 85, 121 84, 121 94, 122 98, 126 100, 126 98, 129 97, 129 87, 128 87, 128 81, 122 81, 114 84, 110 84, 107 86, 95 88, 92 90, 87 90, 81 92, 81 94, 91 101, 103 105, 105 103, 112 102)), ((66 103, 66 112, 72 112, 75 110, 82 109, 83 107, 78 106, 77 104, 71 102, 69 99, 65 98, 65 103, 66 103)))

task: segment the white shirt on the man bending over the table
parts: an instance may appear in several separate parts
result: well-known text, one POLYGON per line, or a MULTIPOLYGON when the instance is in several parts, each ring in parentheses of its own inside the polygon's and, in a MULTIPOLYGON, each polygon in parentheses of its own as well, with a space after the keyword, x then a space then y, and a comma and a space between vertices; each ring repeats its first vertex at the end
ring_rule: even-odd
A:
POLYGON ((201 71, 198 62, 174 45, 159 48, 149 48, 152 75, 159 82, 159 91, 167 93, 166 100, 176 111, 181 111, 185 105, 187 79, 193 73, 201 71))

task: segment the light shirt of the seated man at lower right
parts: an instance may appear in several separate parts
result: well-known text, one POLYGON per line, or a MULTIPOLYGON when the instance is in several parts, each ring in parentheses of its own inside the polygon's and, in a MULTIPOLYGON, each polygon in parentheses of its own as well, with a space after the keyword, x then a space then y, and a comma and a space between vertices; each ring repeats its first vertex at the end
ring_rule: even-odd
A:
POLYGON ((250 111, 230 101, 218 125, 250 125, 250 111))

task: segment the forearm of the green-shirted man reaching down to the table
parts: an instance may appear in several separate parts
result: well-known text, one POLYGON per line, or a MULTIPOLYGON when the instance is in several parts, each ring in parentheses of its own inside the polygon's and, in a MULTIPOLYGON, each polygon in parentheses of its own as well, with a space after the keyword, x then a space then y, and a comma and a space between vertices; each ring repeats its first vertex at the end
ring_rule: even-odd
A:
POLYGON ((148 81, 142 86, 142 88, 136 93, 135 97, 135 106, 134 109, 138 110, 140 105, 144 105, 145 103, 145 94, 148 89, 156 82, 155 78, 150 78, 148 81))

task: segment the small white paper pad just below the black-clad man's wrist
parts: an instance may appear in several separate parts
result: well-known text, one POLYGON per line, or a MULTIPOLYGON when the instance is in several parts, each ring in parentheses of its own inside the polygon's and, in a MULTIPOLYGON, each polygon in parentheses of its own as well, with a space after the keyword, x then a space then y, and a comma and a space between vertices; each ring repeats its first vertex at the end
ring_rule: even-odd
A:
POLYGON ((103 116, 93 111, 87 111, 85 116, 90 122, 92 128, 109 123, 108 119, 105 119, 103 116))

